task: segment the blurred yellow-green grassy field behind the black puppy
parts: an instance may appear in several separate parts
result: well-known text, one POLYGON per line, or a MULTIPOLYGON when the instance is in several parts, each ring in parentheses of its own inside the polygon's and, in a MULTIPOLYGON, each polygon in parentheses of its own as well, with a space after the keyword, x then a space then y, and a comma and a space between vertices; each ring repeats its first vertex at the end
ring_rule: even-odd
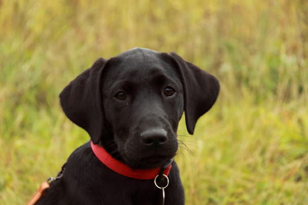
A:
POLYGON ((0 204, 88 134, 59 106, 98 57, 175 51, 221 82, 176 160, 186 204, 308 204, 308 1, 0 1, 0 204))

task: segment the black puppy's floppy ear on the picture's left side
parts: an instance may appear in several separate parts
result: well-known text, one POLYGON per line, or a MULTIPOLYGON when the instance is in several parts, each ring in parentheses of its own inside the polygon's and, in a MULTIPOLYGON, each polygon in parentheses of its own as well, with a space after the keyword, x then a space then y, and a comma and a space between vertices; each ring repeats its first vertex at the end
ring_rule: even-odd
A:
POLYGON ((104 129, 100 79, 105 63, 104 58, 97 59, 60 93, 60 103, 65 115, 85 129, 94 144, 99 142, 104 129))

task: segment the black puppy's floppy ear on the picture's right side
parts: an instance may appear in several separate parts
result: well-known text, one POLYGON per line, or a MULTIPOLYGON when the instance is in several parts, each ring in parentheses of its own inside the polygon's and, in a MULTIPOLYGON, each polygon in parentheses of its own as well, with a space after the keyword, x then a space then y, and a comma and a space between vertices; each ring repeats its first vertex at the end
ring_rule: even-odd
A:
POLYGON ((184 89, 186 127, 188 132, 193 134, 199 117, 214 105, 219 93, 219 82, 214 76, 185 61, 176 53, 170 53, 170 56, 178 64, 184 89))

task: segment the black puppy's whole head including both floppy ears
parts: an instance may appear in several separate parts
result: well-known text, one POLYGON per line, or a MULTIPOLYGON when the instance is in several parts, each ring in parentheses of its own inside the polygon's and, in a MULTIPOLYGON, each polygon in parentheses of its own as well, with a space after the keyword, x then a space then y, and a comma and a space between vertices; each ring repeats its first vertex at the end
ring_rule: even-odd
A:
POLYGON ((96 60, 64 88, 60 101, 93 143, 132 168, 151 168, 176 154, 183 111, 192 134, 218 92, 214 76, 177 54, 134 48, 96 60))

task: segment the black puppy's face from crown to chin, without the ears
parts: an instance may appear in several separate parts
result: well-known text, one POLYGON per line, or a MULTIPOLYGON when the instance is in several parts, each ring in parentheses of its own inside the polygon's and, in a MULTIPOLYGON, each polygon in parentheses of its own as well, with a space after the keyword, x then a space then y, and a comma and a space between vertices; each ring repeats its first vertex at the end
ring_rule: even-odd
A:
POLYGON ((155 167, 172 158, 184 111, 183 88, 172 61, 155 51, 132 49, 110 59, 105 69, 105 120, 125 163, 155 167))

